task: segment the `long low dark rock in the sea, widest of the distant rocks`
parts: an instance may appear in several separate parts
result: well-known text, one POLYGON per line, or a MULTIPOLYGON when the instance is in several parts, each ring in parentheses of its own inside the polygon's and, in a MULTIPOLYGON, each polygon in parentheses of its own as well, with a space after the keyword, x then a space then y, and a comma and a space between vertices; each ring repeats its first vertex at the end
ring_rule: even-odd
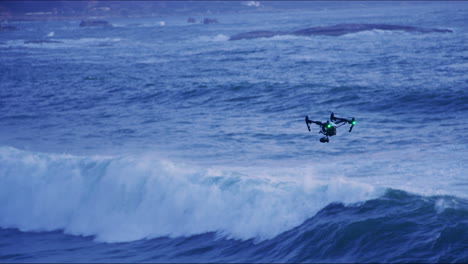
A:
POLYGON ((240 39, 254 39, 254 38, 270 38, 278 35, 293 35, 293 36, 342 36, 351 33, 357 33, 368 30, 389 30, 389 31, 406 31, 411 33, 452 33, 449 29, 437 29, 437 28, 419 28, 412 26, 397 26, 397 25, 386 25, 386 24, 339 24, 329 27, 310 27, 297 31, 251 31, 240 33, 231 36, 229 40, 240 40, 240 39))

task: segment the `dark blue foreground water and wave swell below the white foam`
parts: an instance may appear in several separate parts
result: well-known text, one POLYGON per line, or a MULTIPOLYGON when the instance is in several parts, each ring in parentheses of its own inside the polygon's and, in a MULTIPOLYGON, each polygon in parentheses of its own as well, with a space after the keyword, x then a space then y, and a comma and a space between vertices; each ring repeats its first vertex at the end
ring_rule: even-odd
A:
MULTIPOLYGON (((458 262, 466 263, 468 201, 388 190, 378 199, 332 203, 300 226, 260 242, 214 232, 100 244, 60 232, 1 229, 3 261, 49 262, 458 262), (23 241, 15 246, 8 241, 23 241), (41 240, 46 239, 49 245, 41 240), (25 242, 26 241, 26 242, 25 242), (59 249, 59 250, 50 250, 59 249)), ((273 220, 273 219, 272 219, 273 220)))

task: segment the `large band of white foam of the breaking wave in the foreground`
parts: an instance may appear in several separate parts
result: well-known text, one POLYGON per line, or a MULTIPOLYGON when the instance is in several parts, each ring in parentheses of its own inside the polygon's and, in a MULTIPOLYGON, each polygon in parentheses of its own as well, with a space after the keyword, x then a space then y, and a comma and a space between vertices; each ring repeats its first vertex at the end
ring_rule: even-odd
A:
POLYGON ((0 147, 0 226, 64 230, 106 242, 205 232, 268 239, 331 202, 381 194, 347 178, 259 174, 151 155, 79 157, 0 147))

